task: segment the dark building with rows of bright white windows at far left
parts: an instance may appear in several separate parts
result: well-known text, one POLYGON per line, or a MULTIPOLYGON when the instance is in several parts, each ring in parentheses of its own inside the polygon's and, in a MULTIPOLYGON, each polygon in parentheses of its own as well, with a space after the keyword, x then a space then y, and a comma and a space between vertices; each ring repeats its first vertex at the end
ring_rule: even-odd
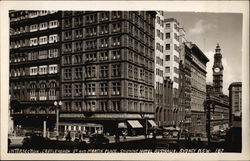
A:
POLYGON ((61 12, 10 11, 9 17, 14 130, 54 130, 54 101, 60 97, 61 12))

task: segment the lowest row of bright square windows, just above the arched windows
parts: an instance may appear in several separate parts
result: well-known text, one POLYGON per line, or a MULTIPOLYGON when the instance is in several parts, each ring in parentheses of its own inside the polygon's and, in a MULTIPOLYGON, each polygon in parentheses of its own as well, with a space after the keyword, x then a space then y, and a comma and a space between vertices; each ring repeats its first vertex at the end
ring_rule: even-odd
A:
POLYGON ((30 67, 29 75, 44 75, 44 74, 56 74, 58 73, 58 65, 42 65, 39 67, 30 67))

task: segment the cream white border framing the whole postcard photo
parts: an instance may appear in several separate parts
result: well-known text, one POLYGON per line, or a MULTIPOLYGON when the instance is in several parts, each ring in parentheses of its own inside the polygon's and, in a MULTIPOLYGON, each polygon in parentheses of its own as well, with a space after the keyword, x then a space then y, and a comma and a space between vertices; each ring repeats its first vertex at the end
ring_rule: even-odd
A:
MULTIPOLYGON (((5 1, 1 11, 1 159, 13 160, 248 160, 249 154, 249 2, 248 1, 5 1), (165 10, 195 12, 226 12, 243 14, 243 151, 242 153, 136 153, 136 154, 9 154, 8 131, 8 82, 9 82, 9 19, 8 10, 165 10), (46 157, 45 157, 46 156, 46 157)), ((232 44, 233 45, 233 44, 232 44)))

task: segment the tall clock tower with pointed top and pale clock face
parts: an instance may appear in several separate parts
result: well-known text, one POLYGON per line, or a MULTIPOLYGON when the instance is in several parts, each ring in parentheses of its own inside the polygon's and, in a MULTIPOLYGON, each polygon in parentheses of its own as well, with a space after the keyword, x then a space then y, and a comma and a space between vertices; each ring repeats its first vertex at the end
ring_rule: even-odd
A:
POLYGON ((214 92, 217 94, 223 94, 223 65, 222 55, 220 52, 220 46, 217 44, 214 54, 214 65, 213 65, 213 83, 214 92))

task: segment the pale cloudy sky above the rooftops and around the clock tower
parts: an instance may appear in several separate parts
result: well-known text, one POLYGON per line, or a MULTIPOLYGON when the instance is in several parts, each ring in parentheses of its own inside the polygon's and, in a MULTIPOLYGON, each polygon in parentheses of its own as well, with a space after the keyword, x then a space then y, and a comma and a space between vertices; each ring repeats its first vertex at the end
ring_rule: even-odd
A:
POLYGON ((210 60, 207 82, 213 82, 212 66, 216 44, 222 54, 223 92, 228 94, 232 82, 242 81, 242 14, 166 12, 165 18, 175 18, 186 31, 186 39, 195 43, 210 60))

